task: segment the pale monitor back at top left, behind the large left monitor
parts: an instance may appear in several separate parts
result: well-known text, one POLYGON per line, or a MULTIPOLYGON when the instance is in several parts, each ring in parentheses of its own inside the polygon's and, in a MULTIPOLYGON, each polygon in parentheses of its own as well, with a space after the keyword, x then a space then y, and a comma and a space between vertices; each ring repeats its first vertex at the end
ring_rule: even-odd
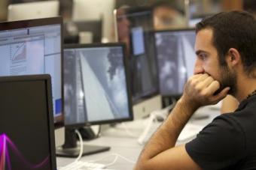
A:
POLYGON ((59 1, 33 1, 8 6, 8 21, 59 16, 59 1))

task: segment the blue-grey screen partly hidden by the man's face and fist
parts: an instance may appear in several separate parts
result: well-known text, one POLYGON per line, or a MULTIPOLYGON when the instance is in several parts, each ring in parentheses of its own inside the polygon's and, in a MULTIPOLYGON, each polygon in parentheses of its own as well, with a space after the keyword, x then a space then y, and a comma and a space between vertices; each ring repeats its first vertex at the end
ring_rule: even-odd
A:
POLYGON ((184 83, 194 74, 195 38, 194 29, 155 32, 161 95, 177 97, 183 93, 184 83))

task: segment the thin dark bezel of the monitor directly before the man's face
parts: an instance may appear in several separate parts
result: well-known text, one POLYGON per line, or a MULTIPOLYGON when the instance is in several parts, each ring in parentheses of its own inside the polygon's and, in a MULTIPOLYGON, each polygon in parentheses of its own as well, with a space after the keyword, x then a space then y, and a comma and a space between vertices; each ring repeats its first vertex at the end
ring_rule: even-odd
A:
MULTIPOLYGON (((179 32, 179 31, 195 31, 195 28, 175 28, 175 29, 163 29, 163 30, 155 30, 153 31, 154 33, 154 48, 156 49, 155 50, 155 55, 156 55, 156 58, 157 58, 157 45, 156 45, 156 34, 157 33, 165 33, 165 32, 179 32)), ((166 95, 166 94, 161 94, 161 91, 160 91, 160 70, 159 70, 159 64, 158 64, 158 58, 157 58, 157 73, 158 73, 158 82, 159 82, 159 93, 160 95, 162 96, 162 98, 164 97, 174 97, 174 98, 179 98, 181 97, 181 94, 177 93, 177 94, 172 94, 172 95, 166 95)))

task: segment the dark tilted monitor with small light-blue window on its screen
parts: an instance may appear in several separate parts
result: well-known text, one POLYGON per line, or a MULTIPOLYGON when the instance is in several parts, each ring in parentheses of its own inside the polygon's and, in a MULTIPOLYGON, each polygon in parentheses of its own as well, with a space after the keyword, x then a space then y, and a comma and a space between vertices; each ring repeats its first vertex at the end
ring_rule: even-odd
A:
POLYGON ((148 7, 114 11, 117 40, 126 43, 133 103, 158 93, 152 10, 148 7))

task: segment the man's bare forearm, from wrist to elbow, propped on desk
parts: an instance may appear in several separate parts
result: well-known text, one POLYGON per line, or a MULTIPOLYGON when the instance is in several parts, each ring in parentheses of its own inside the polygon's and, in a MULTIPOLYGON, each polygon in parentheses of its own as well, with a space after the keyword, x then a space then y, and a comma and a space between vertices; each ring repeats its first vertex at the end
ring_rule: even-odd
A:
POLYGON ((157 154, 174 147, 181 130, 196 109, 184 103, 184 100, 178 100, 169 117, 145 145, 138 163, 145 163, 157 154))

